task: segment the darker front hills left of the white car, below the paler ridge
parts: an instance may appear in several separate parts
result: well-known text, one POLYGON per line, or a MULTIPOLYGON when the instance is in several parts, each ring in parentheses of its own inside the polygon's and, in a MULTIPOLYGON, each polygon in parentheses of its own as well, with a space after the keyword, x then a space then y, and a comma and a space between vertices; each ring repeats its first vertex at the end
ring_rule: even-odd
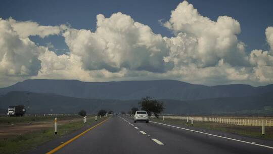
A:
POLYGON ((20 104, 25 105, 26 108, 30 106, 31 113, 77 113, 80 109, 85 109, 88 113, 97 113, 100 109, 127 111, 128 108, 136 106, 137 102, 73 98, 48 93, 29 93, 28 95, 28 92, 14 91, 0 97, 0 108, 20 104))

